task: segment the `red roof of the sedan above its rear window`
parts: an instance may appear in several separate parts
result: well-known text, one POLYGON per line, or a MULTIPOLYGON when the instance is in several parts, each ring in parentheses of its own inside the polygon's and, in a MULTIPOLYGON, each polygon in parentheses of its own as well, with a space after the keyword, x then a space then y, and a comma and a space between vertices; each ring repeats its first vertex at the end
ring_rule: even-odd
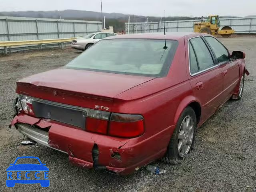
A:
MULTIPOLYGON (((196 34, 201 35, 194 32, 166 32, 166 40, 180 40, 185 36, 197 36, 196 34)), ((117 35, 108 39, 164 39, 164 32, 117 35)))

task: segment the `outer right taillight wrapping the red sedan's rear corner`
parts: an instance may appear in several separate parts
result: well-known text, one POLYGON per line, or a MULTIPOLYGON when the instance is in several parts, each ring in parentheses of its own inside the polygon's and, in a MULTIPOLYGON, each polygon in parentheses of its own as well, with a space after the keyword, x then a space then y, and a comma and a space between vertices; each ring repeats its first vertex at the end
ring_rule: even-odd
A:
POLYGON ((108 135, 133 138, 144 133, 141 115, 112 113, 109 121, 108 135))

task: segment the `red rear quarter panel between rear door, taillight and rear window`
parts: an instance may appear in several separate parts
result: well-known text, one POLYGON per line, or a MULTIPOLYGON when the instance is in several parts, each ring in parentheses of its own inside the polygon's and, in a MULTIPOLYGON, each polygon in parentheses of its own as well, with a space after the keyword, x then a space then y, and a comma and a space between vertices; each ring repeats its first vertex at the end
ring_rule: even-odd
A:
POLYGON ((155 78, 115 97, 114 112, 142 114, 145 133, 138 141, 152 138, 150 148, 166 148, 178 117, 190 103, 191 86, 186 74, 184 39, 179 41, 176 54, 166 77, 155 78), (185 102, 184 102, 185 101, 185 102), (154 136, 161 132, 158 140, 154 136))

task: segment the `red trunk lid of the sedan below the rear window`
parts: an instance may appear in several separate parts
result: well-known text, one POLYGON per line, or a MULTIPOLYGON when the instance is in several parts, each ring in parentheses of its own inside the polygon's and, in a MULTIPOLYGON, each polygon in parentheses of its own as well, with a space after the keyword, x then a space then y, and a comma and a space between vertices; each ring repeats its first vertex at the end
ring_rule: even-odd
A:
POLYGON ((19 80, 16 92, 86 108, 107 106, 111 110, 116 95, 152 79, 154 77, 59 68, 19 80))

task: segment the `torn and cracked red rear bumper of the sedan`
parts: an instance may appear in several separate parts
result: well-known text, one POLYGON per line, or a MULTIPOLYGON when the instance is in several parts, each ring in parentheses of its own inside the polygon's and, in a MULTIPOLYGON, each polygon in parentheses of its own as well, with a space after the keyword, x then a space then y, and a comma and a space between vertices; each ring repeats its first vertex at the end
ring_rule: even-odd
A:
POLYGON ((12 125, 32 140, 67 153, 69 161, 76 166, 115 174, 132 173, 137 167, 164 156, 170 139, 167 130, 144 140, 140 137, 115 138, 26 114, 14 117, 12 125), (156 142, 160 145, 157 146, 156 142), (161 145, 164 147, 160 148, 161 145))

